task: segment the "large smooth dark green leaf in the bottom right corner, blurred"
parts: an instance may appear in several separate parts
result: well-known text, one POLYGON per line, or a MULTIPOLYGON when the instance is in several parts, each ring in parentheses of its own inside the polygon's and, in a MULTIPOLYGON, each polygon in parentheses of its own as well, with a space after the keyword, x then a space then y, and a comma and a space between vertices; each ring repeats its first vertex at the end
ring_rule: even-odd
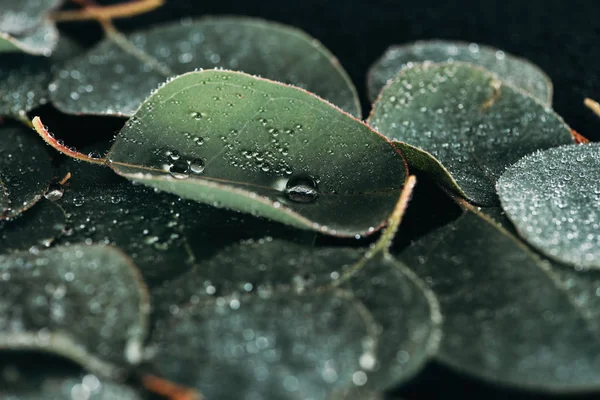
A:
POLYGON ((566 285, 568 279, 557 279, 574 271, 557 272, 471 211, 399 258, 439 298, 444 318, 439 361, 508 386, 598 389, 600 325, 590 318, 597 313, 595 303, 577 304, 577 289, 566 285))

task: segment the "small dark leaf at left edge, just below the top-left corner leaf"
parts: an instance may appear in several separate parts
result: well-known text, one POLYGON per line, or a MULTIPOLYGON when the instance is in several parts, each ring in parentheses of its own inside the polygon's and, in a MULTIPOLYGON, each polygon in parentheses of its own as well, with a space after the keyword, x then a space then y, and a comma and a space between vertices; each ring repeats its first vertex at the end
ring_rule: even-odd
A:
POLYGON ((0 115, 22 117, 46 103, 54 73, 79 51, 75 42, 63 36, 50 57, 0 54, 0 115))

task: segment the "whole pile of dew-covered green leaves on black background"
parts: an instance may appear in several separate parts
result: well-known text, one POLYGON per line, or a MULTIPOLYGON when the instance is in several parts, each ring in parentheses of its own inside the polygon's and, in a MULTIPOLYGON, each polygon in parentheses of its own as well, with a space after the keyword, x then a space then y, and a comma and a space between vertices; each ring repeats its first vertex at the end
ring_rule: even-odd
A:
POLYGON ((392 47, 363 122, 293 27, 74 3, 0 15, 1 398, 380 399, 432 362, 600 389, 600 145, 538 67, 392 47), (92 48, 55 26, 86 19, 92 48), (46 103, 118 132, 75 149, 46 103))

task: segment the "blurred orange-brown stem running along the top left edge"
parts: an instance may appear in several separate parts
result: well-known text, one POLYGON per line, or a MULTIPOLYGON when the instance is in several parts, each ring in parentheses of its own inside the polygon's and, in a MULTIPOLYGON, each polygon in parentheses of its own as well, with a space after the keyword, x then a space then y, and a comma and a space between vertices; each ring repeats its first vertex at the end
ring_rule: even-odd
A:
POLYGON ((97 6, 86 0, 73 0, 84 8, 81 10, 55 11, 50 18, 56 22, 111 20, 129 18, 152 11, 165 2, 164 0, 134 0, 110 6, 97 6))

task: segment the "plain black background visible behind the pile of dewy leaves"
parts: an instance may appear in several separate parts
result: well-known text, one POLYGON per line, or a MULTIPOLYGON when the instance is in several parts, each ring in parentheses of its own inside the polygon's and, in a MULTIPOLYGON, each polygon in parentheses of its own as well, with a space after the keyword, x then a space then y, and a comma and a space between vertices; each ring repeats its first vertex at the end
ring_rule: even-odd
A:
MULTIPOLYGON (((600 100, 599 0, 166 0, 149 14, 121 20, 131 31, 158 22, 207 14, 262 17, 301 28, 319 39, 340 60, 361 96, 368 115, 366 73, 392 44, 417 39, 456 39, 488 44, 525 57, 545 70, 554 83, 554 108, 579 133, 600 140, 600 119, 583 106, 585 97, 600 100)), ((101 1, 108 4, 117 0, 101 1)), ((92 44, 102 37, 93 23, 60 28, 92 44)), ((115 129, 121 122, 116 122, 115 129)), ((80 133, 80 130, 78 130, 80 133)), ((600 373, 600 371, 598 371, 600 373)), ((405 399, 546 399, 498 388, 433 363, 409 385, 394 391, 405 399)), ((600 394, 586 399, 598 399, 600 394)))

